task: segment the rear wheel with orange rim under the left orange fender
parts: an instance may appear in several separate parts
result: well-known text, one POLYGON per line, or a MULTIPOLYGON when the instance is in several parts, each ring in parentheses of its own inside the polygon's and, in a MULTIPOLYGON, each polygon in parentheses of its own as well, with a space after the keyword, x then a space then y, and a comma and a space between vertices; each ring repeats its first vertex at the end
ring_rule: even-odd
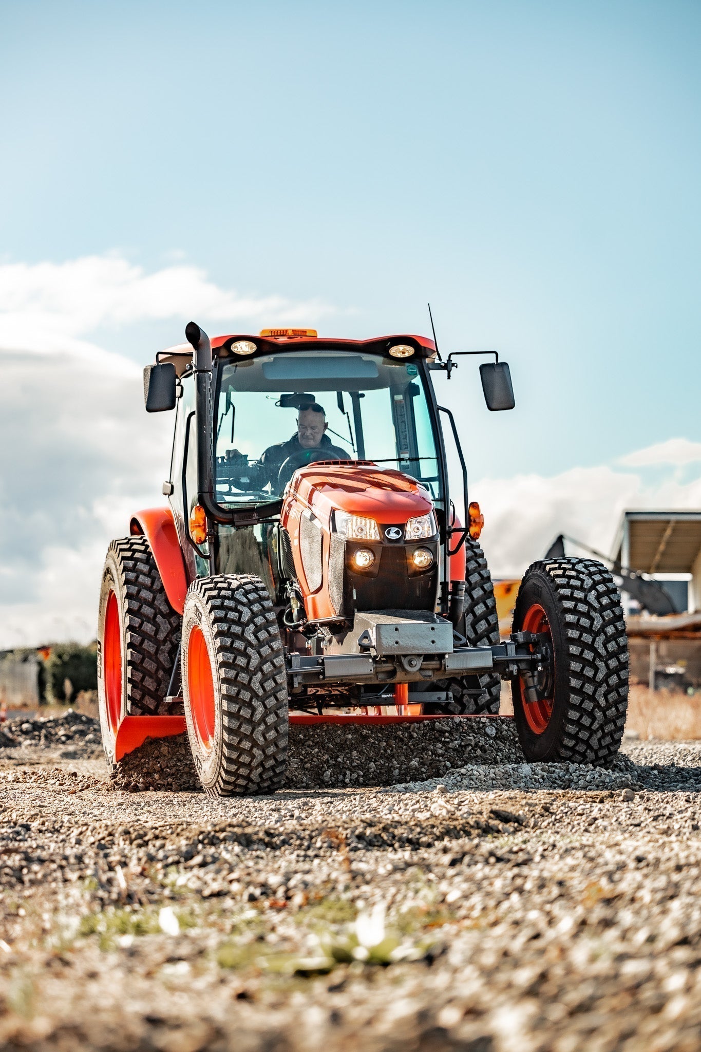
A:
MULTIPOLYGON (((165 701, 180 643, 180 614, 168 603, 145 537, 112 541, 102 572, 98 612, 98 703, 105 755, 114 762, 117 725, 124 716, 182 712, 165 701), (107 606, 114 595, 119 621, 120 697, 106 696, 107 606), (121 700, 120 700, 121 699, 121 700)), ((115 645, 117 645, 116 636, 115 645)))

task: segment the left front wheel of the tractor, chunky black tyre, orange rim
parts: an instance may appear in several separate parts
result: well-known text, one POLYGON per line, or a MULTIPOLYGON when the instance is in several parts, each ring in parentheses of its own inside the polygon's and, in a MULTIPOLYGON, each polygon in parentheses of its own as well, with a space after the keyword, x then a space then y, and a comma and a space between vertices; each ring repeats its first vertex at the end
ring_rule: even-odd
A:
POLYGON ((190 585, 182 661, 187 733, 205 792, 280 789, 287 767, 287 672, 261 578, 220 574, 190 585))

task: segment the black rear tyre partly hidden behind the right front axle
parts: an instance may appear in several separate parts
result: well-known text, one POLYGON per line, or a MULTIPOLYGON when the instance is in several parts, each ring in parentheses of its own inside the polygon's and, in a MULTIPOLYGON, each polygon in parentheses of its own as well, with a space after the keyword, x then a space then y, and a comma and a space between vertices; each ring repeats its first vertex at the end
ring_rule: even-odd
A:
MULTIPOLYGON (((465 542, 465 613, 457 630, 470 646, 490 646, 499 642, 499 618, 494 599, 492 578, 484 553, 477 541, 465 542)), ((414 689, 412 684, 410 689, 414 689)), ((501 699, 501 680, 496 672, 473 673, 427 684, 426 690, 450 690, 452 702, 431 702, 425 705, 429 713, 454 715, 496 715, 501 699)))

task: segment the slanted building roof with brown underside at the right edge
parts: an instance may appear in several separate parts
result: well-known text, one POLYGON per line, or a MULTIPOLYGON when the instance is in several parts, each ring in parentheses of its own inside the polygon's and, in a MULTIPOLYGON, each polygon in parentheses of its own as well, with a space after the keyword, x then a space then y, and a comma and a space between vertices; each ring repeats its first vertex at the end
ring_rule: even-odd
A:
POLYGON ((642 573, 690 573, 701 551, 701 511, 625 511, 613 559, 642 573))

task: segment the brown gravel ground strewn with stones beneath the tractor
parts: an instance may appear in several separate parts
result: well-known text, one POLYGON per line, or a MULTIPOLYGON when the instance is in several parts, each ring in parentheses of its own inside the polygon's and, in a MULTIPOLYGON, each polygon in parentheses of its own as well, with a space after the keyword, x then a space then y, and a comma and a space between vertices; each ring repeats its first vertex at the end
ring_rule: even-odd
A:
POLYGON ((312 730, 288 788, 215 801, 124 791, 89 717, 4 725, 0 1047, 696 1052, 701 743, 312 730))

